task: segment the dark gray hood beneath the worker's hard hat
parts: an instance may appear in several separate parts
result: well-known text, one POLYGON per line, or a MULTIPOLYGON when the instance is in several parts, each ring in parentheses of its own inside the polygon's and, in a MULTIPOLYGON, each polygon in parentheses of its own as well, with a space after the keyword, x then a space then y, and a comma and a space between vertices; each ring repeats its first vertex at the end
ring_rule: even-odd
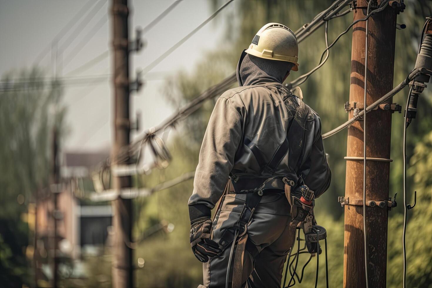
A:
POLYGON ((255 57, 243 51, 236 70, 238 85, 247 86, 270 82, 282 84, 283 78, 291 70, 292 65, 285 61, 255 57))

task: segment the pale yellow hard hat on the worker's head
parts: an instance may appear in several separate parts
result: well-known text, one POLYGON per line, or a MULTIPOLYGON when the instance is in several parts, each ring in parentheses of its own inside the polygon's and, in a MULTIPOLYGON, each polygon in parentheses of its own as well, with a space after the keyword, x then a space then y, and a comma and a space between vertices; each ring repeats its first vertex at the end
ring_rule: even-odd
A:
POLYGON ((299 44, 294 32, 285 25, 264 25, 245 52, 260 58, 291 62, 294 63, 291 70, 299 70, 299 44))

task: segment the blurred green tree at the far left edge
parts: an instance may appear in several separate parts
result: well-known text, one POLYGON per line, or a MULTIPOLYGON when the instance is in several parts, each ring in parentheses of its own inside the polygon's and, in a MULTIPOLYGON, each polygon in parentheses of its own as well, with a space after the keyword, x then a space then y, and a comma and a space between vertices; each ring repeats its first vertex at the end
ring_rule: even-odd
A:
POLYGON ((59 82, 37 81, 44 73, 22 70, 2 77, 0 92, 0 282, 3 287, 29 285, 26 259, 29 227, 22 214, 37 192, 48 187, 51 172, 51 127, 64 132, 65 108, 59 82), (14 81, 19 78, 21 80, 14 81), (6 285, 6 286, 5 286, 6 285))

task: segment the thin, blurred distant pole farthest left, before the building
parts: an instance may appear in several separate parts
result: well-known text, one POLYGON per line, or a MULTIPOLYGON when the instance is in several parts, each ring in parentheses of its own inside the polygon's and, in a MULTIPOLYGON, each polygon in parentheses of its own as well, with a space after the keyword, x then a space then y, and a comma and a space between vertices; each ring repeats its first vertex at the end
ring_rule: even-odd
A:
MULTIPOLYGON (((52 163, 51 163, 51 193, 53 197, 53 210, 52 210, 52 217, 53 217, 53 239, 52 239, 52 255, 53 255, 53 287, 58 287, 58 235, 57 235, 57 221, 60 218, 60 212, 58 211, 58 203, 57 203, 57 197, 58 193, 60 193, 60 165, 59 165, 59 159, 58 159, 58 133, 57 133, 57 127, 54 126, 52 131, 52 163)), ((37 222, 37 219, 36 219, 37 222)))

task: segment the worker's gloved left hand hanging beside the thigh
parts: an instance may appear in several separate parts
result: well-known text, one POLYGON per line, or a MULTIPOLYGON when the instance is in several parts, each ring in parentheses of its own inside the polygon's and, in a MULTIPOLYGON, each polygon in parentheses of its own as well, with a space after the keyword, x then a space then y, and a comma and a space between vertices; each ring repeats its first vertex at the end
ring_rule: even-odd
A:
POLYGON ((222 251, 219 245, 210 239, 212 220, 210 217, 196 219, 191 223, 191 247, 195 257, 205 263, 209 257, 217 256, 222 251))

